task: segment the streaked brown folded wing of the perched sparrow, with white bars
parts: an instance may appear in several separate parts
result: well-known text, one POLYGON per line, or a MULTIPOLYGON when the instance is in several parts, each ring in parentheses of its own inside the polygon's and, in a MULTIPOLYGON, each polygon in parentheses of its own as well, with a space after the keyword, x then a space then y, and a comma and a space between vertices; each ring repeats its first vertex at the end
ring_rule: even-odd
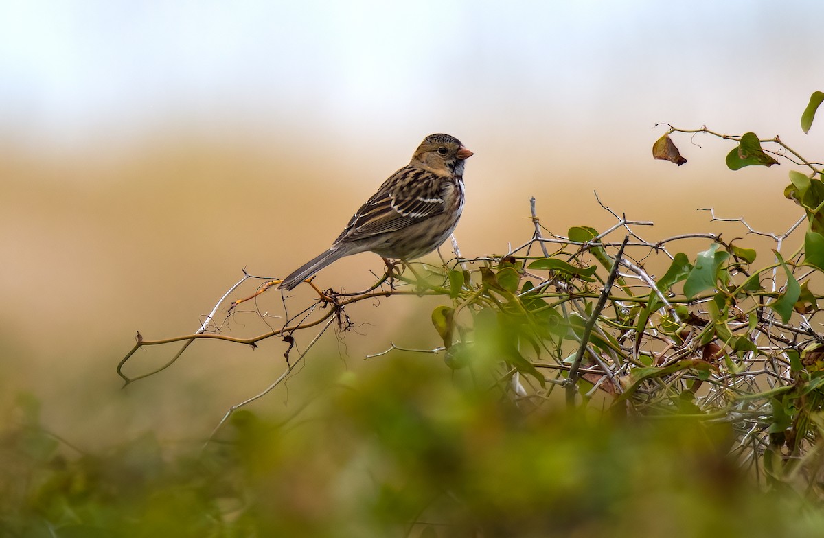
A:
POLYGON ((335 242, 397 232, 442 213, 443 181, 417 166, 401 168, 358 209, 335 242))

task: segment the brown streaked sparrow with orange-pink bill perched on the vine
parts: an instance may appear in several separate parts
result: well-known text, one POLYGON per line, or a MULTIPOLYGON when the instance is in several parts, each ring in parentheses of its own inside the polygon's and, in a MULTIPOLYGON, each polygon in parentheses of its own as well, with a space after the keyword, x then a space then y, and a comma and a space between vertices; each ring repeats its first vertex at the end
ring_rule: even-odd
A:
POLYGON ((366 252, 413 260, 437 249, 455 229, 464 204, 464 161, 473 153, 448 134, 430 134, 407 166, 384 181, 323 254, 283 278, 292 289, 344 256, 366 252))

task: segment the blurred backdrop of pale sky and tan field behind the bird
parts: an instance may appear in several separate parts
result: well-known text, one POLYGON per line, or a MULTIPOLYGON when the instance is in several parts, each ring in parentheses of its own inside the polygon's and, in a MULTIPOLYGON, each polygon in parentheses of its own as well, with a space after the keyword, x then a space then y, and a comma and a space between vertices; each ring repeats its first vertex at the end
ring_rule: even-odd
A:
MULTIPOLYGON (((608 227, 593 190, 654 221, 639 230, 651 240, 719 231, 705 207, 783 232, 798 217, 782 196, 790 166, 728 171, 731 146, 706 136, 676 138, 686 166, 653 161, 653 126, 780 134, 821 159, 822 125, 805 136, 798 119, 824 89, 822 15, 812 1, 0 7, 2 409, 33 392, 82 446, 208 434, 283 370, 283 344, 196 344, 120 391, 135 331, 188 334, 241 268, 283 277, 325 250, 428 133, 475 152, 465 256, 526 241, 533 195, 553 232, 608 227)), ((355 289, 381 269, 358 255, 319 281, 355 289)), ((397 339, 432 304, 376 306, 350 311, 359 334, 328 334, 330 353, 261 405, 288 413, 364 353, 412 344, 397 339)), ((230 330, 265 325, 242 314, 230 330)), ((130 371, 172 352, 140 352, 130 371)))

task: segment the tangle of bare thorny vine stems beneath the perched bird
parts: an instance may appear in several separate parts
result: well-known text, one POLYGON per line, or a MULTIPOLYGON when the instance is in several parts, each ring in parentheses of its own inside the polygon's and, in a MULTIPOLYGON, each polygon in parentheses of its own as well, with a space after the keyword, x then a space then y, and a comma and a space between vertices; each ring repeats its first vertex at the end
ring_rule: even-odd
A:
MULTIPOLYGON (((788 149, 788 152, 790 151, 788 149)), ((597 193, 596 199, 602 209, 616 221, 606 227, 606 232, 598 233, 594 239, 586 242, 569 241, 569 238, 550 232, 537 216, 536 199, 530 199, 531 237, 523 245, 508 249, 508 256, 513 256, 517 262, 525 266, 536 257, 553 257, 551 250, 555 247, 550 250, 547 246, 555 244, 559 246, 558 252, 563 253, 563 255, 556 256, 559 260, 563 258, 575 267, 586 268, 592 264, 592 256, 599 255, 598 252, 600 252, 600 263, 605 269, 611 269, 601 290, 595 288, 593 283, 570 277, 563 272, 549 271, 541 274, 522 272, 518 275, 518 288, 515 292, 505 294, 503 297, 494 295, 482 279, 477 278, 477 274, 481 266, 487 269, 501 267, 503 256, 490 255, 466 259, 461 255, 457 242, 453 238, 452 250, 455 252, 455 259, 442 260, 442 267, 429 266, 430 270, 426 279, 431 280, 432 274, 443 272, 444 269, 460 266, 470 277, 458 290, 450 288, 445 276, 443 284, 433 285, 420 282, 419 277, 410 278, 405 274, 394 275, 394 282, 399 285, 389 288, 386 286, 390 278, 388 272, 382 276, 377 275, 376 283, 372 287, 359 292, 334 292, 331 289, 321 288, 316 280, 311 280, 305 289, 307 291, 311 289, 315 297, 308 304, 297 303, 301 305, 297 314, 289 315, 286 310, 287 304, 297 301, 297 298, 282 297, 283 311, 286 313, 283 316, 283 325, 269 326, 268 331, 248 338, 240 338, 221 334, 231 316, 252 313, 266 322, 268 314, 260 310, 236 311, 234 306, 242 301, 233 302, 221 324, 216 322, 220 308, 232 293, 252 278, 265 280, 254 295, 249 297, 255 299, 255 307, 260 308, 258 305, 262 298, 257 297, 264 297, 267 290, 274 287, 275 283, 279 283, 277 278, 255 277, 244 270, 243 277, 222 295, 218 304, 207 316, 204 316, 204 320, 199 323, 199 328, 194 334, 144 340, 143 336, 138 333, 138 342, 120 361, 117 372, 125 385, 161 372, 175 363, 196 339, 219 339, 232 344, 256 347, 260 341, 272 337, 291 338, 294 343, 295 340, 307 334, 307 329, 321 327, 297 360, 291 364, 287 363, 283 374, 269 384, 265 391, 237 405, 232 405, 228 409, 227 414, 215 428, 215 432, 218 432, 236 409, 274 391, 284 379, 293 373, 295 364, 302 362, 333 323, 338 323, 339 329, 345 330, 350 323, 345 311, 347 306, 391 296, 438 296, 443 297, 447 302, 452 301, 453 319, 461 316, 461 312, 466 314, 466 311, 474 315, 475 312, 485 308, 499 312, 506 310, 517 312, 517 316, 528 321, 527 327, 536 331, 535 343, 527 344, 526 339, 518 343, 520 352, 527 359, 527 363, 519 367, 513 367, 510 363, 506 367, 507 372, 498 377, 500 389, 512 395, 513 400, 519 401, 524 397, 548 399, 554 386, 553 383, 560 382, 564 384, 567 401, 574 406, 575 391, 581 378, 586 376, 586 380, 593 383, 592 389, 587 391, 586 399, 606 393, 612 395, 622 393, 620 397, 628 400, 636 412, 666 414, 670 412, 667 409, 669 409, 672 395, 686 390, 687 386, 691 387, 691 391, 695 387, 694 405, 700 409, 700 412, 705 413, 708 419, 713 417, 713 420, 727 421, 735 424, 736 428, 744 424, 742 421, 746 419, 746 428, 740 426, 742 441, 738 448, 740 448, 741 461, 750 461, 754 458, 754 451, 762 451, 769 445, 765 431, 769 426, 771 416, 770 397, 782 393, 781 391, 790 391, 794 384, 798 383, 798 372, 793 369, 792 359, 787 354, 788 350, 800 353, 805 346, 824 341, 824 337, 815 330, 819 326, 814 318, 817 311, 812 310, 806 316, 795 314, 794 319, 787 322, 783 322, 775 315, 771 306, 774 306, 784 293, 784 281, 781 279, 784 275, 783 271, 778 271, 780 264, 777 263, 750 268, 749 264, 742 264, 741 260, 736 260, 734 265, 740 266, 736 270, 740 271, 741 277, 737 277, 738 273, 731 271, 727 280, 716 283, 715 288, 708 288, 698 293, 696 297, 685 297, 679 291, 681 284, 658 289, 656 278, 654 275, 651 276, 645 268, 645 264, 649 267, 651 263, 646 261, 648 257, 666 255, 672 259, 673 256, 667 252, 667 247, 673 248, 673 244, 695 239, 717 242, 727 250, 730 250, 732 246, 729 242, 722 241, 719 233, 707 232, 678 234, 658 241, 646 241, 634 232, 634 227, 651 226, 652 222, 630 220, 623 213, 613 211, 603 204, 597 193), (626 232, 623 241, 610 241, 610 237, 621 229, 626 232), (537 256, 530 255, 530 249, 536 243, 540 251, 536 252, 537 256), (617 246, 620 246, 620 254, 614 260, 610 260, 615 262, 610 267, 609 262, 604 263, 603 249, 617 246), (575 251, 576 254, 568 258, 569 251, 575 251), (627 270, 619 272, 621 266, 627 270), (772 278, 769 275, 770 271, 772 278), (624 280, 616 281, 619 277, 624 280), (771 286, 770 283, 765 283, 765 287, 761 287, 762 278, 771 280, 771 286), (533 287, 522 287, 522 283, 527 280, 531 281, 533 287), (620 283, 620 286, 617 283, 620 283), (758 285, 757 289, 751 288, 749 284, 752 283, 758 285), (719 286, 719 284, 723 285, 719 286), (420 286, 424 288, 420 289, 420 286), (719 297, 732 299, 723 312, 719 312, 718 307, 714 306, 719 297), (646 307, 651 301, 656 302, 660 307, 655 311, 648 311, 646 307), (675 307, 678 307, 679 311, 684 311, 685 307, 689 308, 689 315, 686 319, 676 313, 675 307), (572 325, 571 320, 577 320, 578 316, 586 320, 582 321, 585 324, 583 332, 579 327, 573 328, 572 325), (798 321, 799 317, 800 321, 798 321), (756 324, 755 327, 752 327, 752 323, 756 324), (550 330, 551 336, 545 336, 547 324, 559 325, 550 330), (214 332, 208 332, 209 330, 214 332), (724 334, 723 330, 728 332, 727 336, 721 338, 719 334, 724 334), (741 339, 751 342, 756 351, 733 352, 733 343, 741 344, 741 339), (182 345, 175 356, 164 366, 137 377, 127 377, 124 374, 125 364, 138 349, 173 343, 182 343, 182 345), (710 344, 715 345, 716 349, 713 349, 710 344), (569 364, 564 362, 564 357, 572 353, 573 346, 577 346, 577 349, 575 349, 572 363, 569 364), (532 349, 540 349, 541 353, 531 353, 532 349), (581 367, 584 353, 591 359, 592 367, 581 367), (689 366, 702 361, 710 365, 710 369, 706 370, 702 377, 697 375, 693 367, 683 367, 650 377, 644 382, 637 382, 630 388, 627 388, 626 384, 621 385, 622 381, 632 379, 639 368, 663 370, 679 368, 679 364, 689 366), (727 367, 728 363, 733 364, 734 368, 727 367), (531 372, 522 369, 526 364, 534 369, 531 372), (525 387, 517 383, 517 379, 528 383, 536 370, 540 372, 569 370, 569 375, 565 381, 558 381, 559 376, 555 380, 547 379, 550 385, 545 391, 536 386, 525 387), (516 374, 527 375, 517 377, 516 374), (702 390, 697 391, 697 387, 702 384, 702 390), (513 391, 519 393, 526 391, 527 396, 513 394, 513 391), (743 437, 745 434, 747 437, 743 437)), ((806 218, 799 218, 786 232, 775 234, 755 230, 744 218, 719 218, 712 209, 708 210, 712 214, 712 222, 740 222, 747 229, 747 233, 769 237, 775 241, 776 250, 779 251, 787 237, 806 222, 806 218)), ((803 284, 811 278, 817 278, 816 269, 801 269, 800 264, 803 258, 798 254, 797 251, 794 255, 787 257, 788 267, 794 271, 798 283, 803 284)), ((730 266, 732 267, 733 264, 730 266)), ((535 272, 532 269, 529 270, 535 272)), ((492 274, 495 274, 495 270, 492 270, 492 274)), ((597 278, 600 279, 600 277, 597 278)), ((680 282, 682 281, 683 278, 680 282)), ((821 296, 814 297, 815 300, 821 298, 821 296)), ((468 316, 465 314, 463 317, 466 319, 468 316)), ((459 325, 458 330, 461 332, 461 343, 471 348, 473 345, 471 327, 459 325)), ((416 353, 445 351, 442 347, 413 349, 391 344, 385 351, 368 355, 368 358, 385 356, 391 350, 416 353)))

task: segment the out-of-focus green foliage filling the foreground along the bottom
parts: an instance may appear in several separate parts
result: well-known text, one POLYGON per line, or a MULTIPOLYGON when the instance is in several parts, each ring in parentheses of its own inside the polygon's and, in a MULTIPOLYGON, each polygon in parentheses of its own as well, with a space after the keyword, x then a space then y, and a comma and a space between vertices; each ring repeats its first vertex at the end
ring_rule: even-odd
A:
MULTIPOLYGON (((22 397, 2 432, 0 536, 814 536, 824 512, 761 489, 724 423, 524 413, 397 356, 312 411, 241 410, 207 447, 151 434, 82 454, 22 397)), ((551 410, 555 409, 555 410, 551 410)))

